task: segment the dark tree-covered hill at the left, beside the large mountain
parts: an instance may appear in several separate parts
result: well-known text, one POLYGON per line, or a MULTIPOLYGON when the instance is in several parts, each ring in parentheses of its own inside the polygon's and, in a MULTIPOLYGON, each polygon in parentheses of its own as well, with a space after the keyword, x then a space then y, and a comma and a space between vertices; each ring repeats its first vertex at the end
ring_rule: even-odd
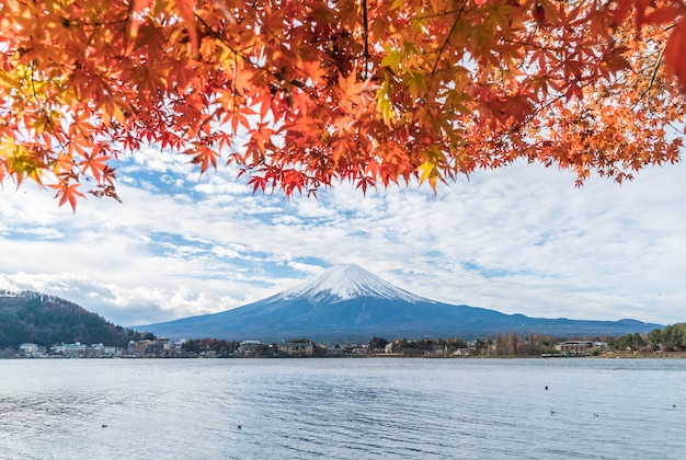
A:
POLYGON ((76 303, 38 292, 0 290, 0 348, 22 343, 49 346, 56 343, 124 347, 141 334, 112 324, 76 303))

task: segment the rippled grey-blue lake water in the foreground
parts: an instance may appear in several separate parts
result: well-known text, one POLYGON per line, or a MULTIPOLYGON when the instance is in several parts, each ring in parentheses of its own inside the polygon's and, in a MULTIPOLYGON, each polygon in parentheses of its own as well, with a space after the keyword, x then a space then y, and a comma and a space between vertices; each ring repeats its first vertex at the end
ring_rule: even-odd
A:
POLYGON ((0 360, 1 459, 685 456, 686 360, 0 360))

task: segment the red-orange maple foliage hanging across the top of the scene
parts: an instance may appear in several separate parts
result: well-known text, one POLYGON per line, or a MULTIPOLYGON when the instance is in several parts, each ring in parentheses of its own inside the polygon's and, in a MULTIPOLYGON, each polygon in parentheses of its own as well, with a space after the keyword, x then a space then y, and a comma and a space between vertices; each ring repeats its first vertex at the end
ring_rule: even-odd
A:
POLYGON ((150 145, 254 191, 363 192, 523 158, 678 160, 682 0, 2 0, 0 182, 117 198, 150 145))

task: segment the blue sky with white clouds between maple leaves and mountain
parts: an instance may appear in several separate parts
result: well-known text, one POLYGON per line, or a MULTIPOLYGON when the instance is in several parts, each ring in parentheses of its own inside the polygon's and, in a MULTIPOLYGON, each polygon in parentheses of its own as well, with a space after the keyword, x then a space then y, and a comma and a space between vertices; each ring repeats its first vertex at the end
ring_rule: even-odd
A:
MULTIPOLYGON (((516 163, 441 186, 255 195, 157 150, 119 164, 123 204, 72 214, 0 191, 0 288, 56 295, 122 325, 218 312, 356 263, 413 294, 529 317, 686 320, 686 166, 582 188, 516 163)), ((90 196, 90 195, 89 195, 90 196)))

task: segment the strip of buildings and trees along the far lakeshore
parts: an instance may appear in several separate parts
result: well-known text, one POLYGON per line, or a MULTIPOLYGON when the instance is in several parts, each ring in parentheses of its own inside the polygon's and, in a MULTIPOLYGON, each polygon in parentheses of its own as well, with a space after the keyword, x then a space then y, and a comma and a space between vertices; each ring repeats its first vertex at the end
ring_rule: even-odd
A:
MULTIPOLYGON (((127 347, 104 344, 61 343, 49 347, 23 343, 18 349, 5 349, 3 358, 276 358, 276 357, 582 357, 637 355, 634 343, 645 337, 625 336, 605 341, 562 341, 545 344, 545 348, 516 336, 496 335, 494 341, 465 342, 457 338, 386 341, 374 337, 368 344, 317 344, 309 340, 284 343, 260 341, 228 342, 216 338, 178 340, 164 337, 130 341, 127 347), (515 338, 515 343, 508 338, 515 338), (513 348, 513 345, 515 348, 513 348)), ((639 344, 640 345, 640 344, 639 344)), ((660 354, 661 350, 653 350, 660 354)))

